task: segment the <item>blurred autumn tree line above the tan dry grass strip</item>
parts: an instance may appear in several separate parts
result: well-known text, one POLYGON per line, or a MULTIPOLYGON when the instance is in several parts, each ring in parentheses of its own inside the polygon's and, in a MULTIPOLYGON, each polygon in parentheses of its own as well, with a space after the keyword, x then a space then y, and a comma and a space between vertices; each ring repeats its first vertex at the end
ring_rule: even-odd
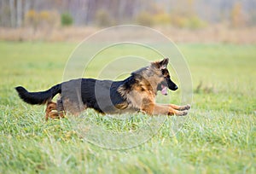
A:
POLYGON ((256 24, 255 0, 1 0, 0 26, 256 24))

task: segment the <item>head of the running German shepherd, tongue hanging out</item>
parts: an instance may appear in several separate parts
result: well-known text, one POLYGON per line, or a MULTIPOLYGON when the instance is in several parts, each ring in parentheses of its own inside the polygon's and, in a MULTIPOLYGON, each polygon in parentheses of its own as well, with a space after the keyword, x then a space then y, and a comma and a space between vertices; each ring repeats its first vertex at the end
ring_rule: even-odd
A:
POLYGON ((158 78, 154 78, 157 82, 157 90, 160 90, 162 95, 167 95, 167 88, 170 90, 177 90, 177 85, 172 82, 170 73, 167 69, 169 59, 165 58, 162 61, 154 61, 151 67, 154 68, 155 74, 158 78))

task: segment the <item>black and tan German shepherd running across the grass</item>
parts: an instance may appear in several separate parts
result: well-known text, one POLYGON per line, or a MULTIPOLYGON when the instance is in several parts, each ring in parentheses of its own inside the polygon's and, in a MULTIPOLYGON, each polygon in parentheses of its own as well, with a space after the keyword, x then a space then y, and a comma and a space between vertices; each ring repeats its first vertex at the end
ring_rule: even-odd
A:
POLYGON ((167 88, 177 90, 167 70, 168 61, 168 58, 154 61, 122 81, 79 78, 40 92, 28 92, 21 86, 15 90, 24 102, 46 104, 45 119, 64 117, 66 113, 78 115, 88 107, 99 113, 143 112, 149 115, 183 116, 189 112, 189 104, 155 103, 158 90, 163 95, 167 95, 167 88), (52 102, 56 94, 61 95, 57 102, 52 102))

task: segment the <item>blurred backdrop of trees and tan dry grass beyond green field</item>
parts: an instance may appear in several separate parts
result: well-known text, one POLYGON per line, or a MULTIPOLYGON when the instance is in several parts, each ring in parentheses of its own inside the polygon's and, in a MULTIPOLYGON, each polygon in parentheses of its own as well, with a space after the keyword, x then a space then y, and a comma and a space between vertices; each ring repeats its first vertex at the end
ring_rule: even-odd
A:
POLYGON ((256 0, 1 0, 0 40, 81 41, 108 26, 150 26, 174 42, 256 43, 256 0))

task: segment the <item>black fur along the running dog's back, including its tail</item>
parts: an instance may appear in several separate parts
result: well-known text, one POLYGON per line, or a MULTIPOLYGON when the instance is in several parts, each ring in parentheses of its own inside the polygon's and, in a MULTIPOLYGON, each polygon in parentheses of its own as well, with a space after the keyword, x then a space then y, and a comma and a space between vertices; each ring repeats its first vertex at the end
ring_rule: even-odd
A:
POLYGON ((16 87, 15 90, 17 90, 20 98, 24 102, 32 105, 41 105, 45 104, 46 102, 50 102, 58 93, 61 94, 61 100, 68 98, 71 99, 72 102, 77 102, 79 99, 77 98, 78 96, 76 89, 79 89, 84 106, 94 108, 100 113, 105 113, 108 110, 114 110, 114 106, 125 102, 125 98, 118 92, 119 86, 123 85, 125 89, 131 90, 131 85, 134 84, 135 81, 134 76, 126 78, 122 81, 79 78, 63 82, 61 84, 56 84, 49 90, 45 91, 28 92, 22 86, 16 87), (98 95, 96 95, 96 91, 99 93, 98 95), (111 101, 109 101, 109 97, 111 101), (105 106, 99 106, 97 101, 103 101, 105 106))

